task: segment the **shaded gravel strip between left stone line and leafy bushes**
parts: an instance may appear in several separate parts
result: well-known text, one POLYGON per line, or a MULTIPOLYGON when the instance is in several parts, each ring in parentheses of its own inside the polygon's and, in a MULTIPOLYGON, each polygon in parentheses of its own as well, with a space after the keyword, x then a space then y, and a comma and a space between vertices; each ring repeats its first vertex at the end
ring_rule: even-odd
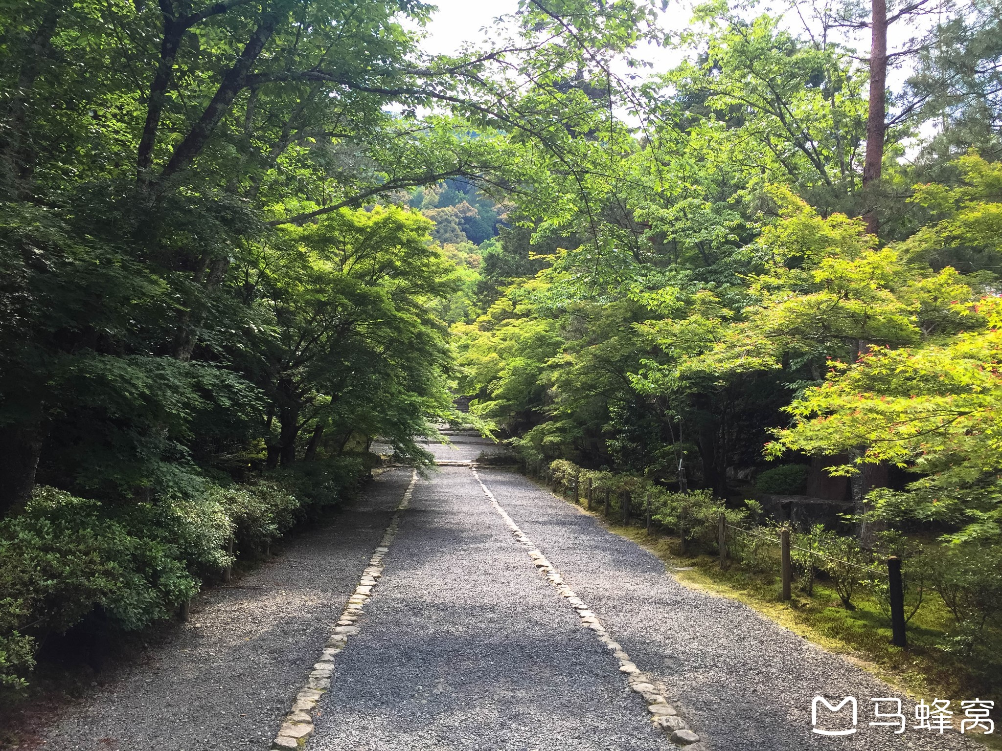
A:
POLYGON ((382 475, 349 510, 298 536, 123 666, 43 735, 46 749, 268 749, 410 482, 382 475), (253 589, 252 589, 253 588, 253 589))

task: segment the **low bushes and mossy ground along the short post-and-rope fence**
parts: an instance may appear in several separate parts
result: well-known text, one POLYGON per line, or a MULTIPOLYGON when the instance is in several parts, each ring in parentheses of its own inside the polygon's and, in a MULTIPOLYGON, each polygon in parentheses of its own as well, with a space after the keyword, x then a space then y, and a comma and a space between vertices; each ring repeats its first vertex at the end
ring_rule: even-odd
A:
MULTIPOLYGON (((775 603, 780 592, 782 533, 775 523, 761 523, 762 510, 755 501, 745 500, 743 508, 735 509, 708 491, 672 492, 637 475, 584 470, 565 460, 551 462, 548 468, 557 484, 571 487, 580 482, 582 502, 584 489, 590 486, 594 492, 609 491, 610 507, 621 510, 617 500, 628 491, 633 497, 634 522, 642 521, 649 503, 652 520, 679 538, 682 555, 692 556, 703 573, 734 587, 742 597, 754 592, 754 599, 775 603), (721 515, 727 524, 743 530, 728 532, 727 553, 734 565, 722 569, 715 556, 710 563, 703 555, 716 548, 721 515), (760 524, 749 524, 752 518, 759 518, 760 524)), ((800 482, 797 478, 806 479, 807 469, 780 467, 763 473, 760 480, 765 478, 762 485, 785 495, 801 487, 794 483, 800 482)), ((936 540, 914 532, 884 530, 875 535, 874 547, 869 548, 845 531, 844 525, 836 530, 820 524, 792 531, 791 563, 801 593, 794 612, 803 614, 824 638, 846 640, 881 659, 890 654, 899 660, 892 654, 897 648, 888 646, 891 615, 886 568, 887 558, 897 556, 902 561, 905 621, 913 645, 909 660, 921 659, 925 668, 942 662, 938 680, 951 685, 960 676, 973 691, 994 690, 999 685, 998 655, 1002 654, 1002 546, 998 538, 958 543, 949 537, 936 540), (833 607, 835 597, 841 608, 833 607)), ((669 546, 660 550, 667 553, 669 546)))

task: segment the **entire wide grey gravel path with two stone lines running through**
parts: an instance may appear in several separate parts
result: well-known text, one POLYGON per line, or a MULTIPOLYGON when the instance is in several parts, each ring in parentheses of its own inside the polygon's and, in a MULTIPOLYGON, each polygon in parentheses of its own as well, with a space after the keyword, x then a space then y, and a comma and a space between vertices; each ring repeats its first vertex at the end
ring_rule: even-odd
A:
POLYGON ((654 751, 685 725, 689 748, 714 751, 982 748, 911 718, 901 735, 869 727, 870 699, 895 696, 885 684, 682 587, 520 475, 439 468, 391 522, 411 480, 383 475, 240 582, 261 589, 208 593, 193 626, 54 723, 44 747, 264 751, 281 733, 297 747, 293 733, 311 751, 654 751), (653 714, 666 727, 644 694, 666 696, 653 714), (816 695, 855 696, 858 731, 812 733, 816 695))

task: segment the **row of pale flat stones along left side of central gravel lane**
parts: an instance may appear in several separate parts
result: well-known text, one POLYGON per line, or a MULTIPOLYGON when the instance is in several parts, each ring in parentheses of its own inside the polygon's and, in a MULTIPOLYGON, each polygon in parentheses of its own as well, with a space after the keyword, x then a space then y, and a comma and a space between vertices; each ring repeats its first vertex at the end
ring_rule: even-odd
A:
POLYGON ((331 685, 334 658, 348 645, 349 637, 359 633, 359 627, 355 624, 359 616, 362 615, 366 601, 372 597, 373 589, 378 584, 379 578, 383 575, 383 557, 389 553, 390 545, 397 536, 397 531, 400 529, 400 519, 411 503, 411 494, 414 492, 414 486, 417 482, 418 472, 414 470, 411 475, 411 483, 404 491, 404 497, 397 505, 393 519, 386 528, 386 532, 383 533, 383 539, 373 551, 369 567, 362 572, 362 578, 359 581, 359 586, 355 588, 355 594, 348 599, 348 605, 335 625, 334 632, 324 651, 321 652, 320 660, 314 665, 306 686, 296 695, 292 711, 283 720, 279 734, 272 743, 273 749, 288 751, 289 749, 303 748, 307 739, 313 734, 312 713, 317 707, 320 697, 331 685))

